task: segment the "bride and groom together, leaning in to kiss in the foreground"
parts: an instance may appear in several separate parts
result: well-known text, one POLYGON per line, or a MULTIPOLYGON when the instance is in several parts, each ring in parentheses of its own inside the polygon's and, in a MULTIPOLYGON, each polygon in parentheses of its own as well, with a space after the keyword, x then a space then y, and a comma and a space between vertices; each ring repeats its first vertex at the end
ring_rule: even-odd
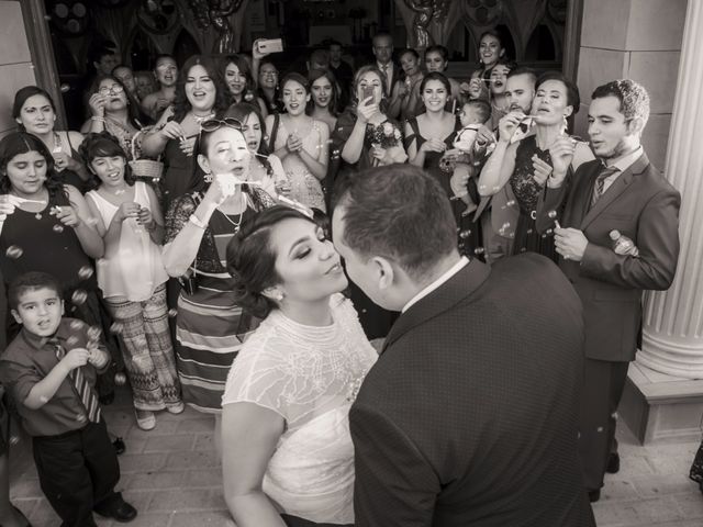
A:
POLYGON ((457 251, 439 184, 411 165, 354 175, 334 245, 289 208, 227 248, 264 318, 223 397, 238 527, 593 526, 577 449, 581 304, 546 258, 457 251), (400 311, 380 354, 348 277, 400 311))

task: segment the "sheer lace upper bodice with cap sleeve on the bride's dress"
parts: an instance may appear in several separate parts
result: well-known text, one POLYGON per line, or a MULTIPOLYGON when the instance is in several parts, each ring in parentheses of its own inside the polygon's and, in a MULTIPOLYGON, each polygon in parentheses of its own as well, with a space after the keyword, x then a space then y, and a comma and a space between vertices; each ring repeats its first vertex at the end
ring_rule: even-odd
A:
MULTIPOLYGON (((331 299, 334 323, 305 326, 274 311, 235 359, 223 404, 250 402, 286 419, 286 434, 354 401, 378 354, 352 302, 331 299)), ((286 435, 284 434, 284 435, 286 435)))

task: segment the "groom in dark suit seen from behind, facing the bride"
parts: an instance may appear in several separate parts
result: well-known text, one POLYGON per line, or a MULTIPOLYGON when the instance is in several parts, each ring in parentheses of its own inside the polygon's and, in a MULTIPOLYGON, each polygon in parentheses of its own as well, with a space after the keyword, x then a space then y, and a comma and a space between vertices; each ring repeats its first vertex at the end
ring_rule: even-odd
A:
POLYGON ((357 527, 593 526, 577 452, 582 316, 538 255, 461 257, 439 183, 355 175, 334 243, 349 278, 402 311, 349 414, 357 527))

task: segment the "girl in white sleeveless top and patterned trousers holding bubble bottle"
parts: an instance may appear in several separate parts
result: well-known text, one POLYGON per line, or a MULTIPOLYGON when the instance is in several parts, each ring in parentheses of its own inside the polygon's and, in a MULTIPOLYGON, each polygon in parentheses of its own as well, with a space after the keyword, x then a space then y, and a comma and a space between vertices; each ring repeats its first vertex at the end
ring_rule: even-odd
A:
POLYGON ((168 330, 168 274, 159 250, 164 220, 154 190, 132 178, 118 141, 107 132, 88 134, 80 154, 100 180, 86 194, 105 244, 98 285, 124 343, 137 425, 149 430, 156 426, 155 411, 183 411, 168 330))

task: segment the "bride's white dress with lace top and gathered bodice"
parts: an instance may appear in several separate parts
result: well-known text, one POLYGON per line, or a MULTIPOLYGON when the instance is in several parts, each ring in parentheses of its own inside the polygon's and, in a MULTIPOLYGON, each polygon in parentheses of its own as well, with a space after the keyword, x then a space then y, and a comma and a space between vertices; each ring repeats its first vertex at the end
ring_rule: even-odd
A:
POLYGON ((249 402, 286 419, 264 492, 281 512, 354 523, 354 445, 348 413, 378 354, 352 302, 331 299, 334 323, 298 324, 274 311, 244 343, 222 404, 249 402))

